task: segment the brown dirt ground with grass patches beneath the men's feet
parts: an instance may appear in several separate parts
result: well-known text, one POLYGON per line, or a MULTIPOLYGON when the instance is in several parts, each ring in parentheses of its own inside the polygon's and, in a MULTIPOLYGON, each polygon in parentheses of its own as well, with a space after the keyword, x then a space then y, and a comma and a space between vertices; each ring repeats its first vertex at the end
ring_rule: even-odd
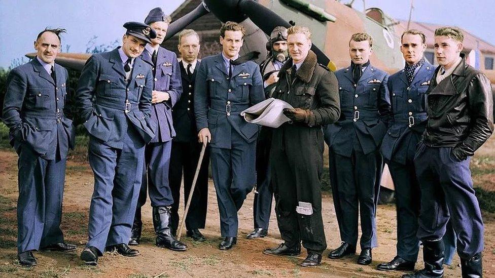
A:
MULTIPOLYGON (((144 209, 144 235, 137 249, 140 255, 127 258, 105 253, 98 266, 85 266, 79 259, 87 241, 87 221, 90 197, 93 191, 93 175, 87 163, 70 161, 67 164, 63 199, 62 230, 68 243, 78 245, 73 253, 36 252, 38 265, 20 267, 16 262, 16 199, 17 155, 10 150, 0 150, 0 277, 400 277, 402 272, 375 270, 378 263, 392 259, 396 254, 396 212, 393 205, 380 205, 377 212, 379 247, 373 249, 373 262, 369 266, 356 264, 357 255, 342 260, 327 258, 324 253, 321 266, 300 267, 306 253, 300 257, 272 257, 262 254, 263 249, 281 242, 274 212, 269 235, 264 239, 247 240, 245 235, 253 228, 253 194, 250 193, 239 211, 239 235, 237 245, 229 251, 220 251, 219 214, 213 182, 210 181, 204 243, 196 243, 183 237, 189 249, 173 252, 154 246, 151 207, 144 209)), ((495 276, 495 215, 484 213, 485 221, 485 277, 495 276)), ((323 219, 328 249, 339 246, 340 239, 331 195, 323 198, 323 219)), ((359 253, 359 250, 358 250, 359 253)), ((446 267, 446 277, 461 276, 459 259, 446 267)), ((421 268, 422 258, 416 268, 421 268)))

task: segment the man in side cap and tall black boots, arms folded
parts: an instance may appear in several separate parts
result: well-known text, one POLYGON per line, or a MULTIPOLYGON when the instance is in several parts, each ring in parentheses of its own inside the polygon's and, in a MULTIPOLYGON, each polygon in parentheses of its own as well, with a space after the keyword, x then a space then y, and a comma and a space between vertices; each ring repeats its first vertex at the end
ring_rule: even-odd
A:
POLYGON ((158 247, 174 251, 185 251, 187 246, 175 239, 169 228, 170 207, 173 204, 172 192, 168 185, 170 149, 175 130, 172 125, 172 107, 182 94, 181 71, 175 53, 160 44, 167 33, 170 17, 161 8, 150 11, 145 19, 156 33, 141 55, 153 71, 153 99, 151 121, 157 127, 156 136, 146 145, 145 165, 143 166, 143 183, 139 191, 134 224, 132 225, 130 245, 138 245, 141 237, 141 207, 146 202, 146 189, 149 188, 150 203, 153 208, 153 226, 155 227, 158 247))

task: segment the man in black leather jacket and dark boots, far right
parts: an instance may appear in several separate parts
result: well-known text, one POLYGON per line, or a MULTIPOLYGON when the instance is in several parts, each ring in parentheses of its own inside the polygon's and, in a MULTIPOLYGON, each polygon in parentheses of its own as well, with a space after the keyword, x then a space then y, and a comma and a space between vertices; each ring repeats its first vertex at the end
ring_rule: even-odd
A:
POLYGON ((493 99, 488 78, 460 54, 463 39, 457 28, 435 30, 439 67, 427 91, 429 121, 414 159, 421 188, 417 235, 425 268, 403 277, 443 276, 441 239, 449 218, 463 277, 482 276, 483 220, 469 162, 493 132, 493 99))

